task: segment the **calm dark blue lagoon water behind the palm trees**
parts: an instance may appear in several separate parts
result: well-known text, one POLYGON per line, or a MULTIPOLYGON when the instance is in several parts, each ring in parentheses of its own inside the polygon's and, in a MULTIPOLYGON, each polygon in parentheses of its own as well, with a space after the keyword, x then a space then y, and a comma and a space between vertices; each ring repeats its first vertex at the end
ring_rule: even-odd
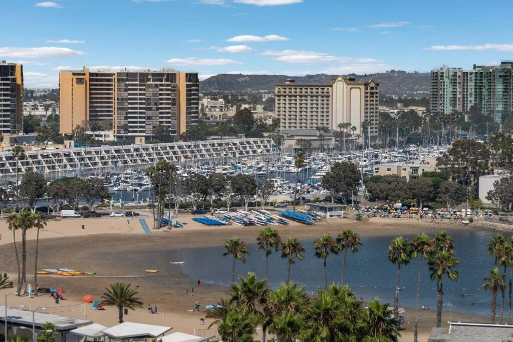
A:
MULTIPOLYGON (((491 303, 491 293, 482 289, 483 276, 494 267, 494 258, 488 255, 486 243, 496 234, 494 231, 450 231, 456 243, 456 256, 461 259, 457 270, 460 279, 456 282, 445 281, 444 303, 449 301, 456 308, 454 311, 471 312, 487 315, 491 303), (470 297, 462 297, 460 293, 470 293, 470 297), (470 305, 473 301, 473 305, 470 305)), ((414 235, 404 235, 411 239, 414 235)), ((396 285, 397 267, 387 259, 390 240, 395 236, 364 237, 363 246, 356 254, 348 253, 345 280, 365 300, 378 296, 384 301, 393 303, 396 285)), ((316 291, 324 286, 322 260, 313 256, 312 240, 303 240, 306 248, 304 259, 297 261, 291 268, 291 279, 306 286, 308 292, 316 291)), ((264 253, 257 252, 255 245, 250 245, 250 254, 246 264, 236 263, 236 274, 246 274, 248 271, 264 275, 264 253)), ((223 257, 223 247, 187 249, 174 254, 183 257, 186 263, 183 270, 194 279, 200 278, 203 283, 228 286, 231 280, 231 257, 223 257)), ((176 258, 178 261, 179 259, 176 258)), ((182 260, 182 259, 181 259, 182 260)), ((330 255, 327 259, 328 283, 340 282, 341 255, 330 255)), ((272 287, 278 286, 287 276, 286 259, 273 254, 269 257, 268 278, 272 287)), ((401 267, 399 305, 416 306, 418 261, 401 267)), ((423 265, 421 303, 431 309, 436 308, 436 282, 429 279, 427 266, 423 265)), ((498 300, 499 301, 499 300, 498 300)), ((507 303, 507 292, 506 292, 507 303)), ((498 303, 498 306, 500 304, 498 303)), ((445 310, 446 308, 444 308, 445 310)), ((507 313, 507 309, 505 310, 507 313)))

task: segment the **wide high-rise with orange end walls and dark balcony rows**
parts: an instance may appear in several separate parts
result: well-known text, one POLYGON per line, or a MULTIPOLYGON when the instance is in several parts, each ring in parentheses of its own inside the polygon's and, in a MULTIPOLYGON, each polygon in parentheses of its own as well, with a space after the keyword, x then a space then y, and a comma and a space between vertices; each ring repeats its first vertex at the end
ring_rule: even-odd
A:
POLYGON ((112 123, 116 136, 151 136, 156 126, 184 133, 199 118, 197 73, 158 71, 61 71, 61 133, 78 125, 112 123))

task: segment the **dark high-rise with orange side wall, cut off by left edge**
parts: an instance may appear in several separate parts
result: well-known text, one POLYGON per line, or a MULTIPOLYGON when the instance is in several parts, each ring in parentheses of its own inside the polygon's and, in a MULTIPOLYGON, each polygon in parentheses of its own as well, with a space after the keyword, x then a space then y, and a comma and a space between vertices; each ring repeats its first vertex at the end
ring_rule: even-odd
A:
POLYGON ((23 126, 23 66, 0 61, 0 134, 17 134, 23 126))

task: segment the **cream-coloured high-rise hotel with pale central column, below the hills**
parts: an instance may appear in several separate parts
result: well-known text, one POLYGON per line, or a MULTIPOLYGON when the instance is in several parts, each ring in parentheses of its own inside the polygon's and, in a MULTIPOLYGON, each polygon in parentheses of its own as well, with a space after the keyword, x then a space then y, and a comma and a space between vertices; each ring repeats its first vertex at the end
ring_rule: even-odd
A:
POLYGON ((326 126, 338 130, 340 123, 357 128, 368 122, 366 134, 378 135, 379 83, 357 82, 339 76, 331 84, 296 84, 293 79, 274 86, 275 112, 280 128, 317 129, 326 126))

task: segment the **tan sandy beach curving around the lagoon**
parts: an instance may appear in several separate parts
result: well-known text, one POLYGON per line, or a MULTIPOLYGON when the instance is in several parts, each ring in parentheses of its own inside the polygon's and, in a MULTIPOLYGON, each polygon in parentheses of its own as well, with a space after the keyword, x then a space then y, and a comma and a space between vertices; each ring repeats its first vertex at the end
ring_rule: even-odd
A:
MULTIPOLYGON (((180 250, 184 248, 201 248, 222 246, 225 240, 237 236, 247 242, 253 242, 261 227, 206 227, 194 222, 190 215, 181 215, 181 221, 187 223, 185 228, 173 231, 153 230, 152 235, 144 234, 144 230, 137 220, 131 220, 127 225, 125 218, 80 218, 55 219, 48 222, 48 226, 40 231, 40 253, 38 268, 66 267, 82 271, 94 271, 91 276, 64 277, 56 275, 38 275, 38 284, 41 287, 57 287, 66 290, 66 300, 54 304, 49 295, 37 298, 9 297, 10 306, 47 306, 49 312, 60 312, 65 316, 82 317, 83 310, 80 300, 85 294, 94 299, 100 299, 105 287, 114 282, 129 282, 137 287, 139 295, 144 302, 142 309, 130 311, 125 317, 126 321, 172 326, 173 331, 196 333, 197 335, 214 335, 215 329, 205 330, 206 325, 200 325, 200 318, 205 317, 204 309, 201 312, 191 312, 195 301, 205 305, 215 304, 217 298, 225 295, 226 288, 217 285, 202 284, 201 289, 196 288, 196 280, 183 274, 181 267, 171 265, 166 272, 155 274, 145 273, 151 268, 152 258, 162 257, 164 251, 180 250), (82 225, 85 229, 82 229, 82 225), (140 251, 151 251, 149 259, 137 258, 140 251), (127 259, 127 252, 132 257, 127 259), (185 290, 194 288, 194 295, 186 295, 185 290), (157 305, 158 314, 148 314, 147 306, 157 305)), ((151 217, 147 217, 151 227, 151 217)), ((343 229, 350 228, 362 237, 377 235, 417 234, 426 232, 432 234, 439 230, 440 225, 422 223, 416 220, 398 220, 386 218, 372 218, 367 222, 357 222, 352 219, 327 219, 317 226, 304 226, 292 224, 276 227, 283 238, 297 237, 312 238, 323 233, 336 235, 343 229)), ((473 229, 472 227, 451 226, 444 227, 449 230, 473 229)), ((11 279, 16 278, 15 256, 13 252, 13 236, 8 230, 5 220, 0 220, 0 269, 8 272, 11 279)), ((21 234, 17 233, 17 239, 21 234)), ((33 249, 36 231, 29 231, 27 237, 27 270, 33 273, 33 249)), ((147 255, 147 254, 145 254, 147 255)), ((172 254, 171 254, 172 256, 172 254)), ((169 257, 169 255, 167 255, 169 257)), ((177 260, 179 255, 176 255, 177 260)), ((33 276, 28 281, 33 281, 33 276)), ((13 290, 6 290, 10 293, 13 290)), ((90 305, 86 307, 88 319, 104 326, 117 323, 117 310, 107 307, 104 311, 91 311, 90 305)), ((420 340, 426 341, 431 328, 435 324, 433 310, 420 313, 420 340)), ((415 324, 415 309, 407 309, 404 314, 407 324, 402 330, 400 340, 412 340, 413 325, 415 324)), ((448 320, 444 312, 442 322, 448 320)), ((452 320, 461 321, 487 321, 486 317, 452 313, 452 320)))

